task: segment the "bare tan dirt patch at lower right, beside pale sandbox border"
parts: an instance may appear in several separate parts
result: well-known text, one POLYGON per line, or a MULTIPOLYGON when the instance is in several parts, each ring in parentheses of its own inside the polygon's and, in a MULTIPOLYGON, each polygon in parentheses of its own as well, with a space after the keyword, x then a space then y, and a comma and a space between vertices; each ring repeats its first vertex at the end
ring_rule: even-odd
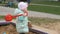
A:
MULTIPOLYGON (((42 26, 42 25, 41 25, 42 26)), ((51 30, 55 30, 60 34, 60 23, 53 23, 53 24, 49 24, 49 25, 43 25, 43 27, 51 29, 51 30)))

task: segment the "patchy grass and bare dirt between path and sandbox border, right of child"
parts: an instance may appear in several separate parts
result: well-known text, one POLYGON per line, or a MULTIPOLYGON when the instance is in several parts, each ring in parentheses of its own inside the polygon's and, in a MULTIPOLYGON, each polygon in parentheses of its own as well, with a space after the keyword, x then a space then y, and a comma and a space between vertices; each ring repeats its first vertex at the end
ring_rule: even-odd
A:
POLYGON ((30 18, 30 21, 34 25, 57 31, 60 34, 60 19, 30 18))

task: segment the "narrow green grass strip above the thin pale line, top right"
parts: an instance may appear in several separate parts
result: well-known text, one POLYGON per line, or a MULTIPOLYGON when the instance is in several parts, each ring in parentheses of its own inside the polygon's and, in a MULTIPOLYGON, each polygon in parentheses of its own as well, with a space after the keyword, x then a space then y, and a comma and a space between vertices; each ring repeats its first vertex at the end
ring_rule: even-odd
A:
POLYGON ((60 6, 60 2, 58 2, 58 1, 56 2, 56 1, 38 1, 38 0, 32 0, 31 3, 34 3, 34 4, 47 4, 47 5, 58 5, 58 6, 60 6))

